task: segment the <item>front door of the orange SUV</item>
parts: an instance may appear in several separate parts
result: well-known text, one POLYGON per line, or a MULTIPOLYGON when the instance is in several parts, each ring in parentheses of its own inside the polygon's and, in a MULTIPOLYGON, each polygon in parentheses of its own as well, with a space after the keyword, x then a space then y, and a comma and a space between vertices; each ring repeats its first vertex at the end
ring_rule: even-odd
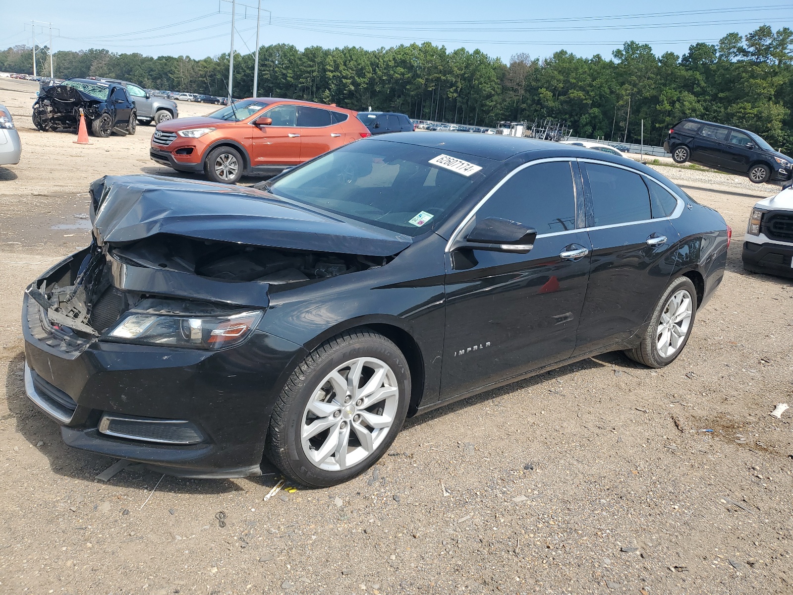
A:
POLYGON ((251 166, 301 163, 301 132, 297 106, 275 106, 257 118, 269 117, 270 125, 251 125, 251 166))

